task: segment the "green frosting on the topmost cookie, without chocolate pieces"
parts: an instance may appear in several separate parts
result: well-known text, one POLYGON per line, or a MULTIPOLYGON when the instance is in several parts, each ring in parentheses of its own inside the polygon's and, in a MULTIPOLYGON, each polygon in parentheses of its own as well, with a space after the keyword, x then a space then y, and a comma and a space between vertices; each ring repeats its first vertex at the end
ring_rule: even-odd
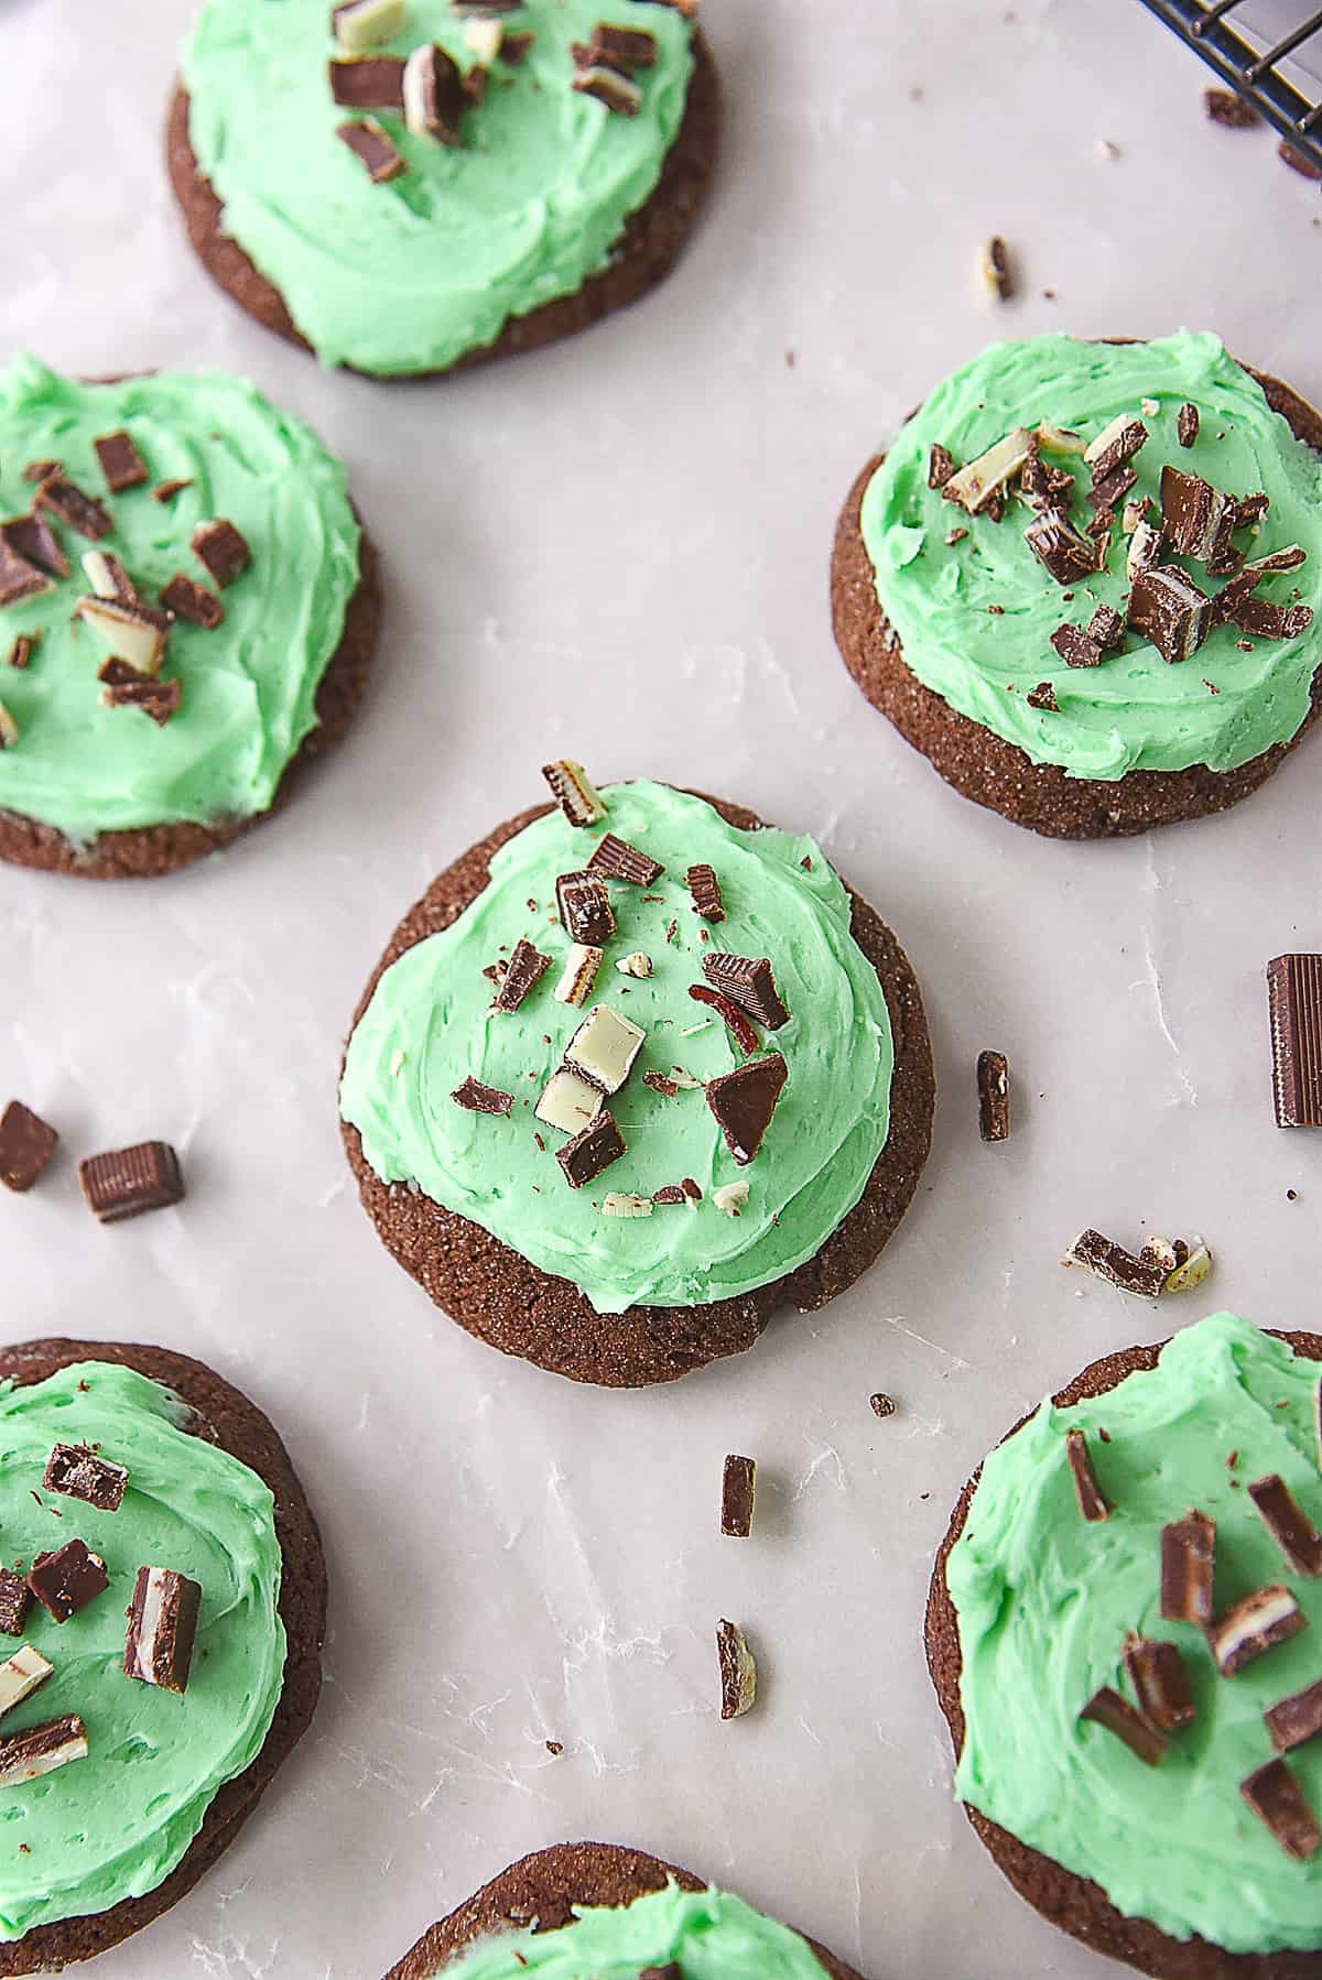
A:
MULTIPOLYGON (((323 364, 442 370, 606 267, 684 119, 692 26, 654 0, 605 14, 656 38, 636 117, 571 89, 571 42, 593 40, 601 0, 529 0, 501 20, 535 34, 531 51, 492 63, 460 147, 373 113, 406 162, 373 184, 335 137, 353 113, 331 101, 327 0, 210 0, 182 61, 192 150, 226 232, 323 364)), ((373 53, 434 42, 468 71, 464 28, 450 0, 408 0, 402 32, 373 53)))

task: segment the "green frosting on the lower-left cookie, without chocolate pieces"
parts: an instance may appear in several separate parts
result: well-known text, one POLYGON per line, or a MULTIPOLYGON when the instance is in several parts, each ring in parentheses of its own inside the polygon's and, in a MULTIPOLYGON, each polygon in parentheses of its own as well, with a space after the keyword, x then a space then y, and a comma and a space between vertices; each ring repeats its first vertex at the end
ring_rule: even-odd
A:
MULTIPOLYGON (((248 1465, 188 1436, 186 1420, 161 1384, 107 1362, 0 1394, 4 1564, 32 1564, 81 1538, 109 1574, 109 1588, 65 1624, 38 1602, 28 1614, 24 1639, 55 1669, 6 1717, 4 1734, 77 1713, 89 1752, 0 1788, 4 1940, 155 1891, 216 1790, 256 1758, 275 1713, 285 1632, 274 1499, 248 1465), (129 1471, 117 1513, 42 1491, 52 1447, 83 1441, 129 1471), (174 1568, 202 1588, 182 1697, 123 1671, 141 1566, 174 1568)), ((16 1639, 0 1637, 0 1659, 14 1649, 16 1639)))

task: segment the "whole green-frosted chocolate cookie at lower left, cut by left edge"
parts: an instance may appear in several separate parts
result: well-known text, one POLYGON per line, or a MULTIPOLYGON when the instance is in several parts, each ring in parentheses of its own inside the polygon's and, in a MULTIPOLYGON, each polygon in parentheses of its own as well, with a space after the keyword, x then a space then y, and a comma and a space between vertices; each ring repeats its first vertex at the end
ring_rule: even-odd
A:
POLYGON ((321 1689, 272 1424, 153 1346, 0 1350, 0 1974, 91 1958, 234 1839, 321 1689))

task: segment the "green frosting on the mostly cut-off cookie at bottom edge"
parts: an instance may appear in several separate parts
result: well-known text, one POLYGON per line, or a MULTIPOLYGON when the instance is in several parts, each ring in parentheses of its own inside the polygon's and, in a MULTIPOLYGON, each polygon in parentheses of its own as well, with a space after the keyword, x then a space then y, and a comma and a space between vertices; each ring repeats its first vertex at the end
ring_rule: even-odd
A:
POLYGON ((684 1980, 823 1980, 813 1948, 727 1891, 664 1891, 632 1905, 583 1907, 559 1932, 501 1932, 444 1968, 446 1980, 638 1980, 678 1960, 684 1980))

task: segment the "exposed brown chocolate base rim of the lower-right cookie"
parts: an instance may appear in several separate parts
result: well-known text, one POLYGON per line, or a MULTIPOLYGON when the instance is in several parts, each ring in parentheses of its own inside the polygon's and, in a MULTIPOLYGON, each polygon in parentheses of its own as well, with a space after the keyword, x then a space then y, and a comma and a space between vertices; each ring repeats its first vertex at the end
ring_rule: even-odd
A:
MULTIPOLYGON (((1322 1360, 1322 1336, 1282 1333, 1276 1338, 1288 1340, 1296 1354, 1306 1360, 1322 1360)), ((1104 1354, 1082 1374, 1052 1396, 1058 1408, 1084 1402, 1090 1396, 1106 1396, 1108 1390, 1124 1382, 1140 1368, 1156 1368, 1161 1346, 1126 1348, 1120 1354, 1104 1354)), ((1023 1430, 1027 1416, 1007 1432, 1003 1443, 1023 1430)), ((963 1533, 969 1517, 969 1503, 981 1477, 981 1465, 959 1493, 951 1513, 949 1533, 941 1540, 928 1594, 928 1669, 949 1725, 955 1758, 963 1750, 963 1707, 959 1703, 959 1673, 963 1655, 959 1649, 959 1620, 945 1586, 945 1562, 963 1533)), ((1322 1952, 1225 1952, 1223 1946, 1207 1938, 1171 1938, 1148 1919, 1126 1919, 1116 1911, 1106 1891, 1088 1877, 1078 1877, 1052 1857, 1021 1843, 1017 1835, 991 1822, 977 1808, 965 1804, 965 1816, 973 1824, 979 1839, 989 1849, 997 1869, 1015 1885, 1021 1897, 1035 1911, 1072 1938, 1082 1938, 1094 1952, 1106 1952, 1112 1960, 1138 1966, 1150 1980, 1322 1980, 1322 1952)))

